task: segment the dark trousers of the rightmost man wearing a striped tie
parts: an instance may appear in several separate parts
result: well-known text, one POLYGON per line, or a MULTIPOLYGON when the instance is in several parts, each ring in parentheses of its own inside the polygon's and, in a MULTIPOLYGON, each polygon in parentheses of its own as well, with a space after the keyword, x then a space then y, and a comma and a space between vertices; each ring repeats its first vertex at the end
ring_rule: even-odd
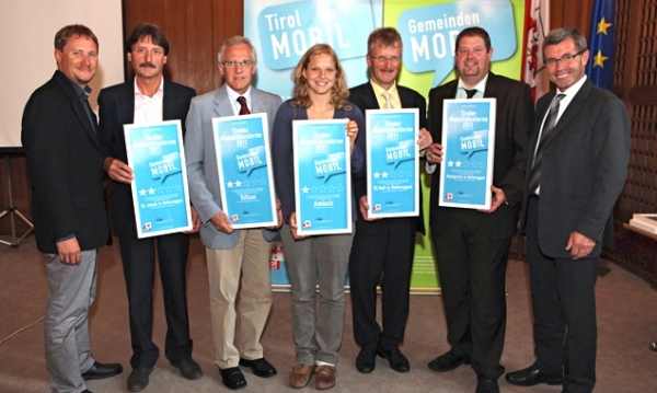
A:
MULTIPOLYGON (((527 252, 534 316, 534 366, 564 373, 564 392, 591 392, 596 383, 598 258, 552 258, 538 240, 539 198, 529 198, 527 252)), ((566 244, 564 244, 564 248, 566 244)))

